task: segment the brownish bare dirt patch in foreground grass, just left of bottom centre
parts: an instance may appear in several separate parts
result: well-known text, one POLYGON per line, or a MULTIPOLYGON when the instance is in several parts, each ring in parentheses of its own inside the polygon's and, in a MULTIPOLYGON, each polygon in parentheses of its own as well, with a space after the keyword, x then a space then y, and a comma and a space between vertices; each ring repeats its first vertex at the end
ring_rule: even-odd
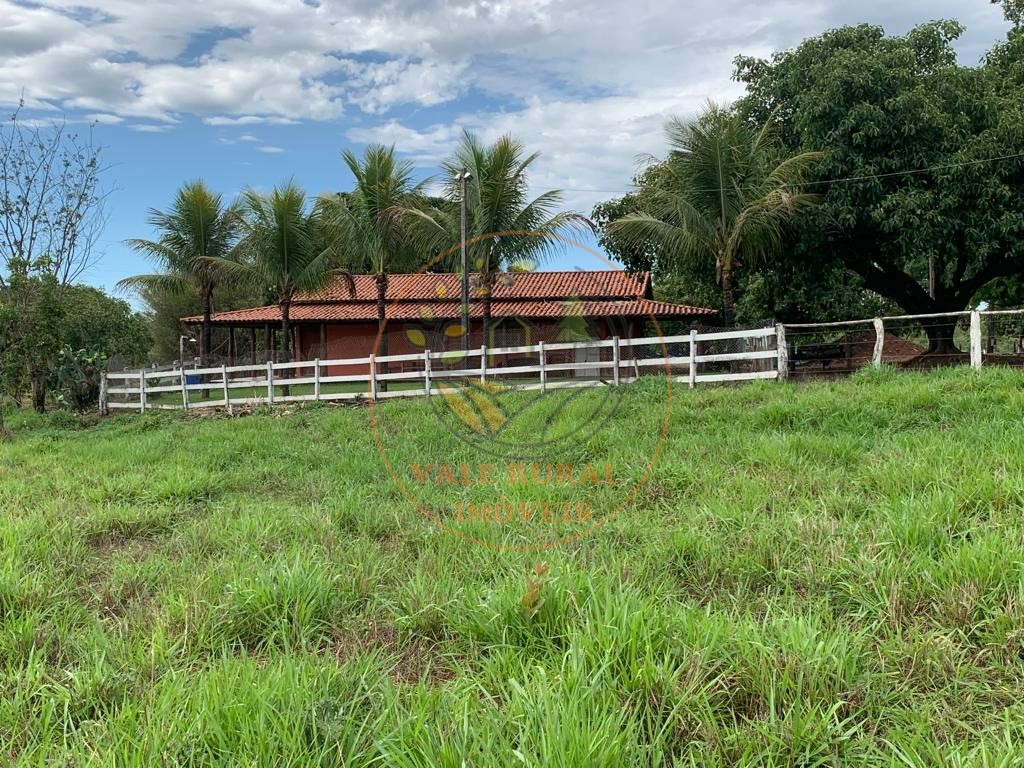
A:
POLYGON ((390 666, 389 677, 395 684, 443 685, 456 676, 438 653, 437 643, 423 638, 401 638, 389 625, 371 624, 364 632, 346 632, 334 640, 334 655, 339 663, 355 653, 379 651, 390 666))

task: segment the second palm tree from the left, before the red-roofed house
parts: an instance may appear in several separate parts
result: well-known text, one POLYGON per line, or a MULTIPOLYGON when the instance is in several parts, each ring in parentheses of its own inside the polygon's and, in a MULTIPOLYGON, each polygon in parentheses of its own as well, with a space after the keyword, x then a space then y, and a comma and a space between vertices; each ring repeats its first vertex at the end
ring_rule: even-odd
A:
POLYGON ((281 309, 282 360, 292 359, 291 307, 295 296, 323 287, 335 274, 334 251, 324 245, 319 216, 306 196, 288 182, 269 195, 242 196, 241 258, 211 258, 224 273, 247 280, 273 296, 281 309))

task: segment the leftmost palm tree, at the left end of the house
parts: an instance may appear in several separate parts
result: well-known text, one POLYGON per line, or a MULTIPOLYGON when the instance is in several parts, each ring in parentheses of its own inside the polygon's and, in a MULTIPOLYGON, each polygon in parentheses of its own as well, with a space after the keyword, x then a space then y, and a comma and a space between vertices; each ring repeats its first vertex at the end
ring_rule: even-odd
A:
POLYGON ((125 245, 147 256, 160 271, 125 278, 117 287, 198 297, 203 306, 200 357, 205 362, 211 347, 213 294, 222 278, 211 259, 228 259, 238 236, 236 211, 197 180, 178 189, 170 211, 151 210, 147 221, 160 239, 128 240, 125 245))

